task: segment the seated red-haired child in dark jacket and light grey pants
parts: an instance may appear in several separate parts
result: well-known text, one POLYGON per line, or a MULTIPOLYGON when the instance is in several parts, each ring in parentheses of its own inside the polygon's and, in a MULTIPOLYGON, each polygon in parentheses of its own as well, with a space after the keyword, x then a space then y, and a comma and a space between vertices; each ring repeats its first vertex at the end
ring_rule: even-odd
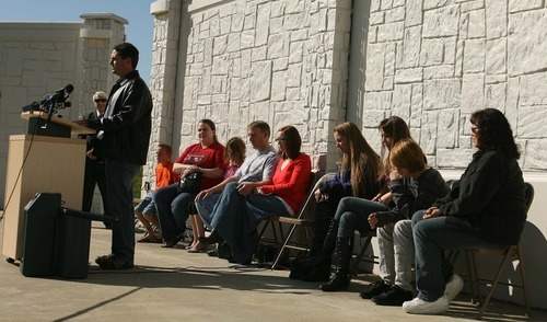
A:
POLYGON ((423 152, 411 139, 398 141, 389 153, 392 165, 389 189, 397 207, 369 216, 371 228, 377 228, 380 277, 360 292, 379 306, 401 306, 412 299, 412 215, 428 209, 449 191, 441 174, 429 168, 423 152))

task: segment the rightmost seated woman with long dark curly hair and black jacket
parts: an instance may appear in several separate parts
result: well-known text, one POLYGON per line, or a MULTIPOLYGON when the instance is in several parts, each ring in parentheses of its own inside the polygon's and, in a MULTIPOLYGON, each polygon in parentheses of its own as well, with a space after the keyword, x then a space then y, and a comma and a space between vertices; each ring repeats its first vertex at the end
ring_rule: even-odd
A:
POLYGON ((403 303, 416 314, 446 311, 463 288, 443 250, 519 243, 526 220, 525 184, 519 147, 505 116, 486 108, 470 117, 477 151, 450 193, 412 217, 418 296, 403 303))

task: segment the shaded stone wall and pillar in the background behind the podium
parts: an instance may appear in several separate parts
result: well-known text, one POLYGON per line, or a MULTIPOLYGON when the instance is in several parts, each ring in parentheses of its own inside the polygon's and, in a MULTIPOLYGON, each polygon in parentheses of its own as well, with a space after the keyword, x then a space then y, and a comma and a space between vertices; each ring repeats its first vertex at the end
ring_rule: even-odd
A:
MULTIPOLYGON (((0 200, 5 192, 10 135, 24 134, 21 107, 39 102, 67 84, 74 91, 72 106, 59 115, 78 119, 94 111, 92 96, 108 92, 114 76, 108 66, 112 48, 125 39, 127 21, 109 13, 82 14, 74 23, 0 23, 0 200)), ((67 156, 67 162, 70 162, 67 156)), ((62 175, 63 164, 56 169, 62 175)), ((3 209, 3 206, 2 206, 3 209)))

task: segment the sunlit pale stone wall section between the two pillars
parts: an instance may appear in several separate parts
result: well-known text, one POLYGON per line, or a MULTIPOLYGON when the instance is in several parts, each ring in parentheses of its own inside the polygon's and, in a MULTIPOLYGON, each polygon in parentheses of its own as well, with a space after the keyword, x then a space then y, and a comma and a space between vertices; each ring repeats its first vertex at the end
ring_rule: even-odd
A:
MULTIPOLYGON (((216 122, 223 142, 246 137, 247 124, 263 119, 272 131, 296 126, 316 165, 319 156, 337 154, 331 128, 345 118, 351 1, 206 2, 189 4, 182 18, 189 24, 177 73, 182 115, 174 119, 181 150, 196 141, 201 118, 216 122)), ((334 169, 337 158, 322 168, 334 169)))

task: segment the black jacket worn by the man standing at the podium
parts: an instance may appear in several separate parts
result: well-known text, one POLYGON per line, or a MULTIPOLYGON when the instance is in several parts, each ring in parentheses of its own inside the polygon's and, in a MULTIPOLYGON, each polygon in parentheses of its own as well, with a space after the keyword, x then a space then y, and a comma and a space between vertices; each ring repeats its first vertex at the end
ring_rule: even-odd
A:
POLYGON ((93 143, 94 154, 137 164, 147 162, 152 96, 137 70, 113 87, 103 120, 88 122, 88 126, 100 130, 93 143))

